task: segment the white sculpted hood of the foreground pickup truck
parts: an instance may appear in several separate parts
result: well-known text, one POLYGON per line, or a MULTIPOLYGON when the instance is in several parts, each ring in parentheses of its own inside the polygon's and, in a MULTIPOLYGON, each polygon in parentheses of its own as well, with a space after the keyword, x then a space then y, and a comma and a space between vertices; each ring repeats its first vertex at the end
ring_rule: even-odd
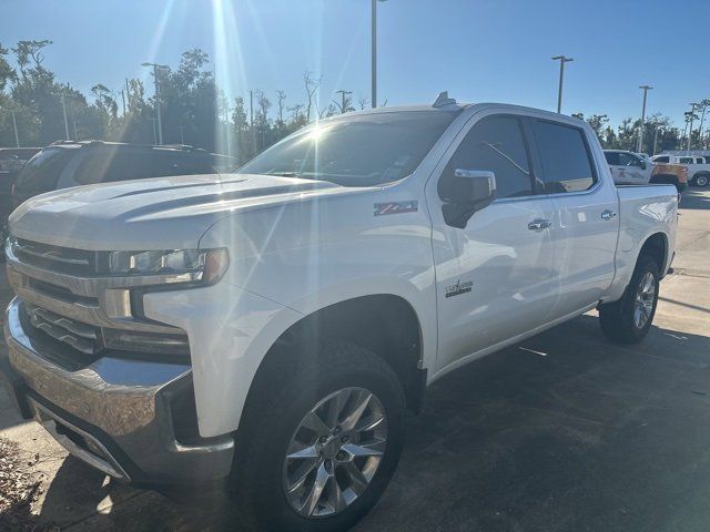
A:
POLYGON ((196 248, 219 219, 363 188, 253 174, 185 175, 50 192, 10 216, 19 238, 89 250, 196 248))

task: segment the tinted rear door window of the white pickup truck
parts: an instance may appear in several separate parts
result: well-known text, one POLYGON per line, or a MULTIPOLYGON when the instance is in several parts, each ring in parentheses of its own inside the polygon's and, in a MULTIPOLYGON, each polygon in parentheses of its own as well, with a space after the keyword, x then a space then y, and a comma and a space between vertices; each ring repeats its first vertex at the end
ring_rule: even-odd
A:
POLYGON ((532 127, 546 194, 586 191, 597 182, 581 130, 541 120, 532 127))

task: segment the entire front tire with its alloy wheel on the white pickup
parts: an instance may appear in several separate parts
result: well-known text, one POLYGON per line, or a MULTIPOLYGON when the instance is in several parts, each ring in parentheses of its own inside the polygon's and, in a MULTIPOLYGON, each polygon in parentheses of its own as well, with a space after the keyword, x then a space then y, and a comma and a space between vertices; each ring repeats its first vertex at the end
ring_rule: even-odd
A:
MULTIPOLYGON (((255 398, 250 397, 248 411, 237 430, 233 493, 257 530, 347 530, 375 505, 399 460, 405 399, 399 379, 389 365, 351 342, 327 342, 317 352, 312 362, 300 361, 297 366, 281 368, 281 377, 276 377, 278 386, 270 378, 263 379, 255 398), (372 393, 371 399, 367 393, 372 393), (362 403, 366 407, 361 426, 375 428, 348 431, 348 416, 362 403), (331 431, 327 437, 321 434, 326 433, 324 424, 327 429, 335 424, 328 422, 326 413, 338 405, 343 407, 337 423, 342 431, 331 431), (379 421, 378 416, 382 416, 379 421), (382 439, 383 434, 385 444, 368 443, 382 439), (327 442, 323 442, 326 438, 327 442), (353 458, 376 452, 382 456, 353 458), (287 459, 287 454, 310 458, 287 459), (353 466, 362 469, 361 475, 349 472, 353 466), (305 471, 310 472, 304 477, 305 471), (294 489, 288 495, 287 488, 301 485, 296 481, 300 478, 306 479, 303 488, 294 489), (311 504, 317 500, 308 494, 314 493, 312 487, 318 478, 325 488, 318 503, 311 504), (337 492, 341 498, 336 497, 337 492), (356 497, 351 500, 353 494, 356 497)), ((290 358, 308 358, 302 355, 291 352, 290 358)))

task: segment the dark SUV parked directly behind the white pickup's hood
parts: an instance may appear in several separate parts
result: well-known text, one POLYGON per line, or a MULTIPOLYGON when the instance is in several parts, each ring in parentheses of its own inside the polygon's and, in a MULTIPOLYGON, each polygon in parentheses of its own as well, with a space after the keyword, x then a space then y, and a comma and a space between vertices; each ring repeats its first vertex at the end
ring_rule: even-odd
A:
POLYGON ((58 188, 166 175, 230 172, 234 166, 231 157, 185 145, 60 141, 44 147, 22 167, 12 192, 12 208, 32 196, 58 188))

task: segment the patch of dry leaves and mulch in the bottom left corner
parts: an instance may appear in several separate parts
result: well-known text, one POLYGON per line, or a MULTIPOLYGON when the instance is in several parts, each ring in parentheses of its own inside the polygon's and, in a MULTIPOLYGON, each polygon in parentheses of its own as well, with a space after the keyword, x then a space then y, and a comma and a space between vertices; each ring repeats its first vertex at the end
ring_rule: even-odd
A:
POLYGON ((32 504, 44 490, 45 475, 31 472, 39 454, 22 452, 13 441, 0 438, 0 530, 4 532, 59 531, 52 523, 39 522, 32 504))

